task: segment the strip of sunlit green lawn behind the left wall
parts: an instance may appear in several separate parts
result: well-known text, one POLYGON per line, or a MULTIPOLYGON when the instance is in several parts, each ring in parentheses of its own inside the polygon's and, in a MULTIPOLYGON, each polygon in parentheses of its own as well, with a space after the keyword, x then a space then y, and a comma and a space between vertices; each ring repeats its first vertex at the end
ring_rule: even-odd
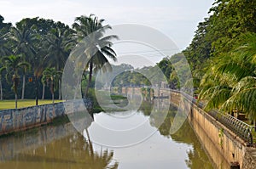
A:
MULTIPOLYGON (((62 100, 55 100, 55 103, 58 103, 61 101, 62 100)), ((51 103, 52 103, 51 99, 38 100, 38 105, 51 104, 51 103)), ((36 100, 34 99, 18 100, 18 108, 29 107, 35 104, 36 104, 36 100)), ((15 109, 15 100, 13 99, 0 100, 0 110, 7 110, 7 109, 15 109)))

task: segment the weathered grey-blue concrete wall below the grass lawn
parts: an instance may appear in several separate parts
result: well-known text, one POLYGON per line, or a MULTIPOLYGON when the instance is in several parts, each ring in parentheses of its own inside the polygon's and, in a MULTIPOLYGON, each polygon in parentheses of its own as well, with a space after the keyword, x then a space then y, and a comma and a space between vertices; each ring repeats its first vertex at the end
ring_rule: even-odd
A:
POLYGON ((44 104, 16 110, 0 110, 0 135, 44 125, 56 117, 83 110, 81 104, 85 104, 87 108, 92 108, 90 100, 85 100, 44 104), (66 104, 66 110, 63 104, 66 104))

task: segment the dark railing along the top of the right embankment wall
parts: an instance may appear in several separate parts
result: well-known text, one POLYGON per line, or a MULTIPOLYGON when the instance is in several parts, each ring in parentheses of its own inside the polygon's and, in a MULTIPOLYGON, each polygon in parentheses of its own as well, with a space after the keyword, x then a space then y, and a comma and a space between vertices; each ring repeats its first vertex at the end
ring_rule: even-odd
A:
MULTIPOLYGON (((180 93, 179 91, 172 91, 174 93, 180 93)), ((204 104, 198 102, 192 96, 188 95, 187 93, 182 93, 183 96, 192 101, 193 104, 196 104, 199 108, 203 108, 204 104)), ((252 130, 253 127, 248 125, 247 123, 240 121, 239 119, 235 118, 232 115, 221 113, 217 110, 211 110, 208 112, 213 118, 217 121, 222 123, 225 127, 229 128, 230 131, 236 133, 236 135, 247 142, 247 145, 253 144, 253 135, 252 130)))

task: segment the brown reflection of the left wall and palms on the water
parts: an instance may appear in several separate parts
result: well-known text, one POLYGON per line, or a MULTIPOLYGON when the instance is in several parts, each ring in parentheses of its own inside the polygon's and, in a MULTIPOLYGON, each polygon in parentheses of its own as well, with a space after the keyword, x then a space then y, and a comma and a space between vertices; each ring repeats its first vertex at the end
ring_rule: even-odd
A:
POLYGON ((117 168, 113 151, 93 145, 68 123, 1 138, 0 168, 117 168))

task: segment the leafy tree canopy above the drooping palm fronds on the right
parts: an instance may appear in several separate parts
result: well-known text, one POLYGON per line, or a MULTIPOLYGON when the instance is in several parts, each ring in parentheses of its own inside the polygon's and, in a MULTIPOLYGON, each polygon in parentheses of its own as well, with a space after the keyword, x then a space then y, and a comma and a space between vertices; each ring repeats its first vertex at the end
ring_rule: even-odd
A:
POLYGON ((213 3, 209 17, 199 23, 193 41, 183 51, 196 83, 206 73, 212 58, 236 50, 244 33, 256 31, 255 7, 256 2, 250 0, 216 0, 213 3))

